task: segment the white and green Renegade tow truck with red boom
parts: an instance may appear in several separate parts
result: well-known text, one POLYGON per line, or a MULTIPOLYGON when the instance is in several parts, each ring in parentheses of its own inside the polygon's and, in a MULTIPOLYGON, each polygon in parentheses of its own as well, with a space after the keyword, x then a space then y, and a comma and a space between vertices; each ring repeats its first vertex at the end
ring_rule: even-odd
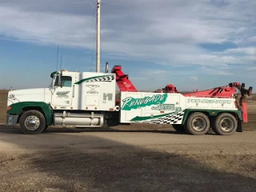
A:
POLYGON ((105 73, 61 70, 50 77, 48 88, 9 91, 7 125, 19 124, 24 134, 41 134, 48 126, 150 123, 170 124, 194 135, 206 134, 210 128, 229 135, 242 131, 242 122, 247 122, 246 95, 253 89, 234 82, 189 94, 178 93, 172 84, 140 92, 121 66, 110 73, 106 66, 105 73))

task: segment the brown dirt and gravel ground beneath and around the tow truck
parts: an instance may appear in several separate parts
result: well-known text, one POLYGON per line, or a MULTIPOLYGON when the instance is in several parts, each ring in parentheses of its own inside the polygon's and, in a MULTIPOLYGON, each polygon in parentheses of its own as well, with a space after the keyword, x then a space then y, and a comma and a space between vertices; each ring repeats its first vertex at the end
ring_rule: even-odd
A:
POLYGON ((0 90, 0 191, 255 191, 254 97, 231 136, 138 125, 25 135, 4 125, 0 90))

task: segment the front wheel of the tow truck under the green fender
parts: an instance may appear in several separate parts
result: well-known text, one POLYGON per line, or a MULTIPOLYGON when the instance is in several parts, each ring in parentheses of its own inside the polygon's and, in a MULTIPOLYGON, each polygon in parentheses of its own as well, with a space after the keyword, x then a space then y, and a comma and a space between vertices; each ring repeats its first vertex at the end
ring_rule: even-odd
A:
POLYGON ((46 127, 46 119, 38 110, 26 111, 19 123, 23 134, 41 134, 46 127))

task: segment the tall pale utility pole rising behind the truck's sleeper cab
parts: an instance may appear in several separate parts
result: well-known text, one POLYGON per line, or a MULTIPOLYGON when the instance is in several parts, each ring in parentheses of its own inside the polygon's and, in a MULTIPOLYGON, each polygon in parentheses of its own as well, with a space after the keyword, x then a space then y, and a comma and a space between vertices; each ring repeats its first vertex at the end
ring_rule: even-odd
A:
POLYGON ((96 72, 100 73, 100 63, 101 63, 101 0, 97 2, 97 63, 96 72))

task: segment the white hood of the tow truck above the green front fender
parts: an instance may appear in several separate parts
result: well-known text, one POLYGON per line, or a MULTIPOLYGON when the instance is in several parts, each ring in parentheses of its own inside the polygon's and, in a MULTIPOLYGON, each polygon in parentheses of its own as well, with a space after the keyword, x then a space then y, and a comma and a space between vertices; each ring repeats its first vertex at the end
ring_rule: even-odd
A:
POLYGON ((49 103, 51 92, 49 88, 10 90, 7 106, 17 102, 46 102, 49 103))

